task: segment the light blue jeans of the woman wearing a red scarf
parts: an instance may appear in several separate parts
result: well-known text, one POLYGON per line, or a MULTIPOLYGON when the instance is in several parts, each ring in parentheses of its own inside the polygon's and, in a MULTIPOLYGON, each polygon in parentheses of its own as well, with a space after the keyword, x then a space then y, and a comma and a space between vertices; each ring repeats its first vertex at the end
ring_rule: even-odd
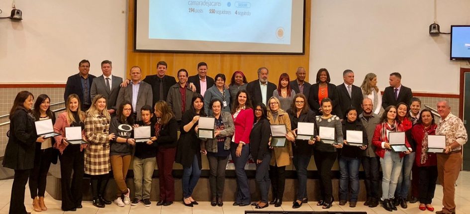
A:
POLYGON ((396 183, 401 173, 400 153, 386 151, 383 158, 380 158, 382 167, 382 200, 392 199, 395 194, 396 183))

